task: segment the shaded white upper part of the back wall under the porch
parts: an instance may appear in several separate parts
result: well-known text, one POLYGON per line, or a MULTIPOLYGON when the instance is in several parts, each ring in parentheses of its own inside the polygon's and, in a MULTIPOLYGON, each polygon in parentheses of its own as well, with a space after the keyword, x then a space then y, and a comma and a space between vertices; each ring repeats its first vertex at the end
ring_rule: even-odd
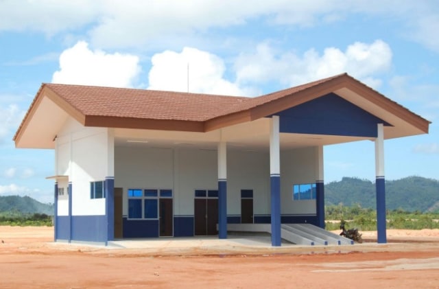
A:
MULTIPOLYGON (((292 200, 292 186, 316 182, 316 148, 281 152, 283 214, 316 213, 315 200, 292 200)), ((241 214, 241 189, 253 189, 254 214, 270 213, 268 152, 227 152, 227 213, 241 214)), ((174 214, 193 215, 195 189, 217 189, 217 151, 174 148, 115 148, 115 187, 172 189, 174 214)))

